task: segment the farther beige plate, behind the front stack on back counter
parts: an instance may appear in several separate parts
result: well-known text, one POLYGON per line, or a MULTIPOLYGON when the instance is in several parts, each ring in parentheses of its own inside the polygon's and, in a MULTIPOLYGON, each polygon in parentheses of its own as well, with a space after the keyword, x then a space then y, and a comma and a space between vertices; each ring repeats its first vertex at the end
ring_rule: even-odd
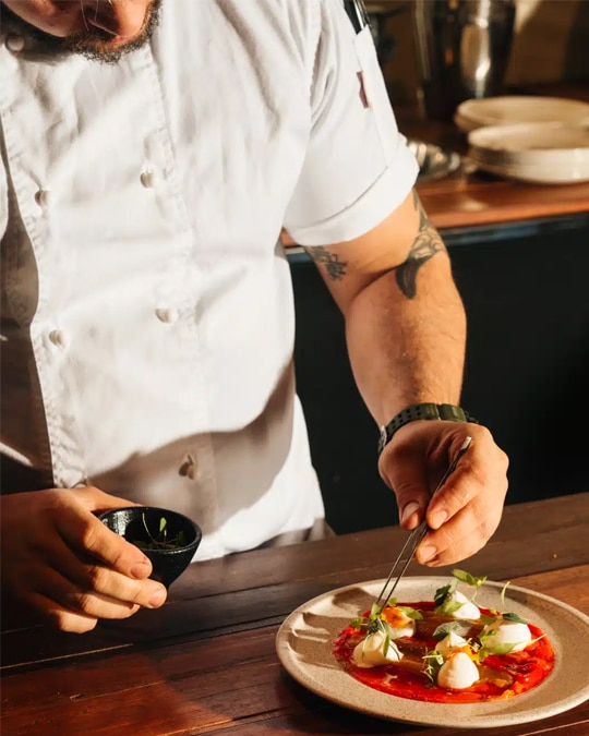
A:
POLYGON ((467 99, 454 116, 458 128, 468 133, 485 125, 560 122, 589 125, 589 105, 566 97, 486 97, 467 99))

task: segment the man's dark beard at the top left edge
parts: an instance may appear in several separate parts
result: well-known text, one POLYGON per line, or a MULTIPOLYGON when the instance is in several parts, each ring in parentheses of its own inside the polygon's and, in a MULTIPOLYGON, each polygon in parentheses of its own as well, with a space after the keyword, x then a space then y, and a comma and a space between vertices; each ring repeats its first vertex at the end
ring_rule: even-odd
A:
POLYGON ((112 46, 112 35, 101 28, 92 28, 65 38, 52 36, 24 21, 0 0, 0 22, 3 28, 34 41, 35 56, 50 56, 56 59, 71 55, 82 56, 91 61, 117 63, 122 57, 135 51, 152 38, 159 22, 163 0, 152 0, 145 13, 141 33, 128 44, 112 46))

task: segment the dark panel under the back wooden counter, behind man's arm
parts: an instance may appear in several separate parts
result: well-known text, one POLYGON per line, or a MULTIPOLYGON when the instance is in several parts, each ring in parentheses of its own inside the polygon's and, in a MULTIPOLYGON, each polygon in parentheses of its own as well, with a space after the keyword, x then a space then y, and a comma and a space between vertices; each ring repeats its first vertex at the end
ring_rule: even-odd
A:
MULTIPOLYGON (((469 323, 461 402, 510 457, 507 503, 588 491, 589 213, 443 236, 469 323)), ((341 316, 311 261, 289 260, 298 390, 327 519, 339 533, 396 523, 341 316)))

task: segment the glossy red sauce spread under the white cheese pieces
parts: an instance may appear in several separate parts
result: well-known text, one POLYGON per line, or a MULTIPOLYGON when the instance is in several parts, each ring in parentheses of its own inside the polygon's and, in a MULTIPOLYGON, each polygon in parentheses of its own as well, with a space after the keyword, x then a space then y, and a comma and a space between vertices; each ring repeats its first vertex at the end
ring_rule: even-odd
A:
MULTIPOLYGON (((399 603, 418 611, 433 612, 433 602, 399 603)), ((491 612, 479 608, 483 614, 491 612)), ((368 616, 369 612, 364 615, 368 616)), ((442 623, 442 622, 440 622, 442 623)), ((521 652, 507 654, 490 654, 479 665, 481 679, 471 687, 453 690, 433 685, 425 674, 410 671, 399 664, 392 663, 377 667, 358 667, 353 664, 352 653, 363 635, 352 626, 345 628, 334 645, 334 655, 341 666, 357 680, 375 690, 410 700, 422 700, 435 703, 473 703, 512 698, 537 687, 554 667, 554 651, 543 631, 533 624, 528 624, 532 639, 538 639, 521 652)), ((437 643, 435 639, 410 637, 397 639, 402 650, 404 642, 422 644, 432 650, 437 643)), ((402 660, 401 660, 402 663, 402 660)), ((413 667, 414 669, 414 667, 413 667)))

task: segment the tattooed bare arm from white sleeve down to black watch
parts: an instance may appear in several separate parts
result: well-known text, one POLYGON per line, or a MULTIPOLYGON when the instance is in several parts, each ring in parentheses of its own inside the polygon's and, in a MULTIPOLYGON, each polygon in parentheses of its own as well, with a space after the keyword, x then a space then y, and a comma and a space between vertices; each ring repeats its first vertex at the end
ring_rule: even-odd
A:
POLYGON ((457 403, 465 311, 417 193, 358 241, 308 252, 345 316, 352 371, 376 422, 414 403, 457 403))

